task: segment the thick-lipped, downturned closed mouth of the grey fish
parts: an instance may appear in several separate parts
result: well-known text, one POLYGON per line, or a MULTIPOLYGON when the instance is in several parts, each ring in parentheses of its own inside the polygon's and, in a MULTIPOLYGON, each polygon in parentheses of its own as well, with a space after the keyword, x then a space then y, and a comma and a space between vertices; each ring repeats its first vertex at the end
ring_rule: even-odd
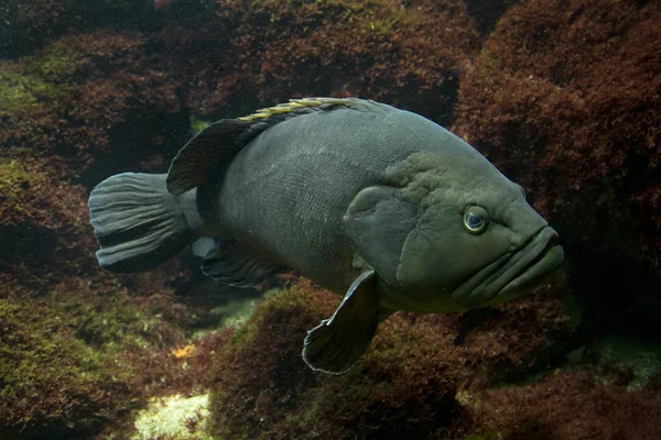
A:
POLYGON ((475 274, 455 290, 455 298, 477 307, 524 295, 562 265, 564 251, 557 241, 553 228, 542 228, 517 252, 502 255, 475 274))

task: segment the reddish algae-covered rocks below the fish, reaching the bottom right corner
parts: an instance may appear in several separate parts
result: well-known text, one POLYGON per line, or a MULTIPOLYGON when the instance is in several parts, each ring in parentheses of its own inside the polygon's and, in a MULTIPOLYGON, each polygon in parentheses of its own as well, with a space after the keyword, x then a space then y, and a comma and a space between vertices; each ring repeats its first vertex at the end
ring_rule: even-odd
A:
POLYGON ((463 315, 399 312, 342 376, 306 369, 306 330, 339 298, 306 280, 266 299, 215 360, 212 435, 231 439, 646 438, 659 382, 625 389, 561 354, 577 320, 556 288, 463 315), (606 381, 606 382, 605 382, 606 381))

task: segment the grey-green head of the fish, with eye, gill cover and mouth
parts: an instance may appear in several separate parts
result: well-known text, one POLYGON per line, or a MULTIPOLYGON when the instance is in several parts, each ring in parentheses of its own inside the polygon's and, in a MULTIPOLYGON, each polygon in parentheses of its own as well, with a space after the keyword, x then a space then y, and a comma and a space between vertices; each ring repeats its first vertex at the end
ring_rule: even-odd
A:
POLYGON ((404 165, 391 174, 405 178, 371 204, 370 227, 381 235, 353 235, 381 278, 384 306, 447 312, 498 304, 561 266, 557 233, 481 155, 421 153, 404 165))

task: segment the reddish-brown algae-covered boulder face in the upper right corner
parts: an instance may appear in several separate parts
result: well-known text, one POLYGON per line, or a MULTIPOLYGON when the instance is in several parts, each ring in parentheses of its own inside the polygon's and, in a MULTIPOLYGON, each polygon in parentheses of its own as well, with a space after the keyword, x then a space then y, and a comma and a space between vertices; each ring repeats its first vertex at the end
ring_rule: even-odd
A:
POLYGON ((459 91, 457 129, 513 174, 543 213, 571 210, 582 233, 593 224, 574 204, 596 199, 626 222, 631 196, 647 194, 658 173, 661 12, 639 3, 516 6, 459 91))

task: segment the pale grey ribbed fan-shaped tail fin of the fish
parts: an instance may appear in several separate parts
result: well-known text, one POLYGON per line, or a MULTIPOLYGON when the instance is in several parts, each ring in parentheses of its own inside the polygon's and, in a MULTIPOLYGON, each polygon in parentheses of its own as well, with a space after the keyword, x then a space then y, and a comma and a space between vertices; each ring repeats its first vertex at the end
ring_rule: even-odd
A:
POLYGON ((178 197, 165 188, 165 176, 118 174, 94 188, 89 215, 102 268, 115 273, 148 271, 195 240, 178 197))

